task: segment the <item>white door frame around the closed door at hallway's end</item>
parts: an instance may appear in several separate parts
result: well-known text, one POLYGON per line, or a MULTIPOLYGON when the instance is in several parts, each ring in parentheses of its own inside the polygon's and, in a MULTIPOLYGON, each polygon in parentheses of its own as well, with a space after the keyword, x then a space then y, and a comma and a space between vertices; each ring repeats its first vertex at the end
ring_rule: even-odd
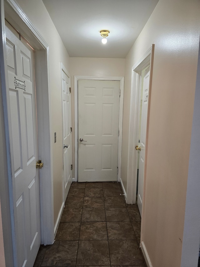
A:
POLYGON ((121 162, 122 162, 122 121, 123 121, 123 96, 124 96, 124 77, 98 77, 98 76, 74 76, 74 146, 75 162, 74 176, 78 181, 78 80, 107 80, 120 81, 119 99, 119 138, 118 138, 118 182, 121 182, 121 162))

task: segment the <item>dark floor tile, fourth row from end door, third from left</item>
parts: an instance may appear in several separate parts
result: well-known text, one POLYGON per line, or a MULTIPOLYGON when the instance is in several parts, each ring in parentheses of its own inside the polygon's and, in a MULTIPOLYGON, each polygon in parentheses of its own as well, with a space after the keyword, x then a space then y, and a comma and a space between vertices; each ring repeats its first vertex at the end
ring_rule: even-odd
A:
POLYGON ((107 222, 130 222, 126 208, 105 208, 107 222))

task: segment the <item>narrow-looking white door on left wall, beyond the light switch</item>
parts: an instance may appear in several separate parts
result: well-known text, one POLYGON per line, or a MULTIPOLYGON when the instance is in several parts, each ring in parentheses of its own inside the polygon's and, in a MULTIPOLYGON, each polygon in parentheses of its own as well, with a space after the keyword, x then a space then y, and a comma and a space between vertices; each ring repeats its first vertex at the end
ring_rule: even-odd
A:
POLYGON ((69 76, 62 69, 64 200, 66 200, 67 198, 69 188, 72 183, 71 95, 69 91, 69 86, 69 76))

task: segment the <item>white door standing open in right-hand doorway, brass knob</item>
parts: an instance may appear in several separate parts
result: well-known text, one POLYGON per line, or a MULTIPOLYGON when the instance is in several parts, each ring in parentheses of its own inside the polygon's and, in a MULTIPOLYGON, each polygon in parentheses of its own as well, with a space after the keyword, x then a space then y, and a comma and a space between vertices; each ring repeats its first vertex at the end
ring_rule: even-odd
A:
POLYGON ((139 174, 138 174, 138 208, 141 216, 142 216, 142 201, 143 201, 143 187, 144 187, 144 163, 145 163, 146 131, 147 131, 149 74, 150 74, 150 67, 148 67, 145 70, 143 78, 140 143, 138 144, 138 146, 141 146, 141 151, 139 152, 139 174))

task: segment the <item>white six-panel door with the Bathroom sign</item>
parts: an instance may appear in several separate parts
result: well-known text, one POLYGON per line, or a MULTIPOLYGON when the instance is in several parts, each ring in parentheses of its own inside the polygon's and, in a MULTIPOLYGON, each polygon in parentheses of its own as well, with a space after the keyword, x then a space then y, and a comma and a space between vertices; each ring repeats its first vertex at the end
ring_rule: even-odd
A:
POLYGON ((17 266, 30 267, 41 243, 34 59, 33 50, 10 25, 6 46, 17 266))

